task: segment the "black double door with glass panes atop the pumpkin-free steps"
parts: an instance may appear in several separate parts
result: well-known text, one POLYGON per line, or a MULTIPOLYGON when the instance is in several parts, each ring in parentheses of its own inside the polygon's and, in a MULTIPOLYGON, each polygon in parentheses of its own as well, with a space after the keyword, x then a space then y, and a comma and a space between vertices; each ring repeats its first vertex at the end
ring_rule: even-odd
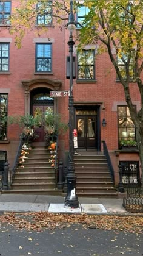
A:
POLYGON ((76 129, 78 130, 78 148, 97 148, 97 116, 76 116, 76 129))

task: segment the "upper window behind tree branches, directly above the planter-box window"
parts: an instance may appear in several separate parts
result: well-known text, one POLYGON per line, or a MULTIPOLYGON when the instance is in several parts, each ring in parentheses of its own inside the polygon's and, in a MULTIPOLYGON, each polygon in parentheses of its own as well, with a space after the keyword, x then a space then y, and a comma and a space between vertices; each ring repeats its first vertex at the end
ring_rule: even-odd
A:
MULTIPOLYGON (((121 72, 122 77, 124 79, 126 79, 126 77, 127 77, 127 74, 126 74, 127 65, 128 65, 127 62, 128 62, 128 56, 127 55, 122 54, 120 57, 119 56, 117 57, 118 68, 119 68, 119 71, 121 72)), ((129 63, 130 79, 133 79, 134 71, 135 71, 135 57, 134 57, 134 54, 132 54, 132 57, 131 57, 130 63, 129 63)), ((118 77, 117 77, 117 80, 119 80, 118 77)))

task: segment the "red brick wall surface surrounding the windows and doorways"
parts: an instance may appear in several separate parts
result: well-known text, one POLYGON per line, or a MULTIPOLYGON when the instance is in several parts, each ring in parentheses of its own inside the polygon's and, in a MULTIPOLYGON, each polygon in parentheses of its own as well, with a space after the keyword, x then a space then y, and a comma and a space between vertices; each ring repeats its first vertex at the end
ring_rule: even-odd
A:
MULTIPOLYGON (((18 0, 12 1, 12 8, 16 6, 18 0)), ((66 57, 68 55, 69 32, 67 29, 62 30, 55 26, 48 27, 41 37, 36 35, 36 27, 31 32, 25 34, 22 40, 21 49, 15 46, 15 37, 10 35, 7 27, 1 26, 1 42, 10 43, 10 70, 9 72, 0 73, 0 93, 8 93, 8 115, 24 115, 26 110, 30 113, 30 93, 35 88, 49 88, 55 90, 54 83, 56 80, 61 82, 59 90, 69 90, 69 80, 66 79, 66 57), (36 73, 35 72, 35 43, 52 43, 52 72, 36 73), (45 80, 50 82, 45 82, 45 80), (28 91, 28 102, 26 100, 26 90, 22 81, 30 82, 28 91), (25 105, 27 104, 27 105, 25 105)), ((76 47, 73 55, 76 56, 76 47)), ((99 144, 102 150, 102 140, 107 143, 108 151, 111 153, 115 172, 118 173, 119 160, 138 160, 138 152, 133 155, 119 154, 118 150, 118 116, 117 106, 126 105, 124 89, 120 82, 116 82, 116 73, 107 53, 98 55, 95 60, 95 77, 94 82, 77 82, 73 81, 73 96, 75 108, 83 106, 98 106, 100 109, 99 124, 99 144), (102 127, 102 119, 107 122, 106 127, 102 127)), ((136 84, 130 84, 130 91, 133 102, 139 109, 140 96, 136 84)), ((57 101, 58 112, 64 116, 63 120, 68 123, 68 97, 59 98, 57 101)), ((8 160, 12 168, 13 159, 16 154, 16 146, 19 141, 19 130, 17 126, 8 127, 8 141, 0 141, 0 149, 8 152, 8 160), (14 145, 14 146, 13 146, 14 145)), ((68 132, 60 138, 61 156, 68 151, 68 132)), ((116 175, 118 183, 118 174, 116 175)))

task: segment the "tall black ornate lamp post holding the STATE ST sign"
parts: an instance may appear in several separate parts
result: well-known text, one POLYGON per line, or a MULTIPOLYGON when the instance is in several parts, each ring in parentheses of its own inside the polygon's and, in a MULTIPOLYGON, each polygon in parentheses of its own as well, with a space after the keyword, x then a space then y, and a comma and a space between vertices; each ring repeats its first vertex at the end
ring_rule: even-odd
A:
POLYGON ((70 15, 67 23, 67 29, 70 31, 70 38, 68 41, 70 52, 70 94, 68 101, 69 109, 69 155, 68 155, 68 174, 67 174, 67 197, 65 198, 65 205, 71 208, 79 208, 78 197, 76 196, 76 175, 74 166, 74 144, 73 144, 73 31, 76 29, 75 17, 73 15, 73 1, 70 1, 70 15))

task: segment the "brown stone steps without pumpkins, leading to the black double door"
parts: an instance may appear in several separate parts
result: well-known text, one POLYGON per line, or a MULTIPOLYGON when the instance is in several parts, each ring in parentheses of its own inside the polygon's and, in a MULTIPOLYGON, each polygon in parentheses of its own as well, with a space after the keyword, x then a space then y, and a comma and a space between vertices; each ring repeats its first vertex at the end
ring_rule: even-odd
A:
POLYGON ((118 197, 104 155, 75 155, 74 162, 79 197, 118 197))

